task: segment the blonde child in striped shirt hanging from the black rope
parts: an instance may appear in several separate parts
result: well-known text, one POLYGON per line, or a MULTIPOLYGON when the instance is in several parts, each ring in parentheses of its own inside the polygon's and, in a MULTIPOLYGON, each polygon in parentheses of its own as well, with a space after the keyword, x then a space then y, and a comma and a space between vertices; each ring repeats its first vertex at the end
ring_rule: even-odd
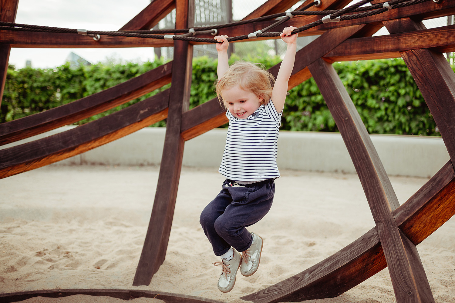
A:
POLYGON ((296 27, 286 27, 281 39, 286 54, 272 88, 273 75, 247 62, 227 62, 227 36, 216 36, 218 80, 216 91, 229 119, 226 147, 219 172, 227 179, 222 190, 202 211, 200 223, 221 256, 218 289, 232 290, 238 268, 243 276, 256 272, 263 238, 245 227, 257 223, 272 206, 274 179, 280 176, 276 156, 278 130, 294 66, 296 27), (242 252, 242 256, 240 253, 242 252))

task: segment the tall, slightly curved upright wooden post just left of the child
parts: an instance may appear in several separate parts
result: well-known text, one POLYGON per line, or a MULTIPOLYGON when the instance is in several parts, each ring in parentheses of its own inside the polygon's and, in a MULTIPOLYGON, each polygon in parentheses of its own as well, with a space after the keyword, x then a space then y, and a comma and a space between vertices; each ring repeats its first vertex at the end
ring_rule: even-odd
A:
MULTIPOLYGON (((177 0, 176 27, 185 28, 194 22, 193 1, 190 1, 177 0)), ((182 113, 189 107, 192 56, 192 45, 187 41, 174 41, 172 87, 157 192, 133 286, 149 285, 166 256, 182 168, 185 141, 180 129, 182 113)))

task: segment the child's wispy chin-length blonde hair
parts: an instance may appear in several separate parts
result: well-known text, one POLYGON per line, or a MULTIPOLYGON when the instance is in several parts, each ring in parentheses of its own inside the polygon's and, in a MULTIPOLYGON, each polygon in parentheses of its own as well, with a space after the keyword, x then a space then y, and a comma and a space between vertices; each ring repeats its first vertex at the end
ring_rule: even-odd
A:
POLYGON ((263 65, 237 61, 229 66, 221 79, 215 81, 215 91, 220 104, 226 108, 227 104, 223 100, 222 90, 236 85, 241 89, 251 91, 258 97, 262 97, 261 104, 267 104, 272 95, 274 82, 275 77, 265 70, 263 65))

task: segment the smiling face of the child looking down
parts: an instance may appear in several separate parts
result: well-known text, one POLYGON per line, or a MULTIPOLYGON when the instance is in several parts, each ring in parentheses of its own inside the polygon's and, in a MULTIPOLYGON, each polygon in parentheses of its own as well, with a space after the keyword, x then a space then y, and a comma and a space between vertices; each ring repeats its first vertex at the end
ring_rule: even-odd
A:
POLYGON ((247 119, 261 106, 262 97, 251 91, 243 90, 238 85, 222 90, 224 104, 238 119, 247 119))

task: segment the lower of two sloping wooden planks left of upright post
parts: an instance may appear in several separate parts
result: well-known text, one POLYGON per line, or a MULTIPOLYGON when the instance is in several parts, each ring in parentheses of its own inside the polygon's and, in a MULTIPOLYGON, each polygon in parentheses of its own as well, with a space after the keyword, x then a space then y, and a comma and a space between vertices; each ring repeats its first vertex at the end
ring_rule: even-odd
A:
POLYGON ((0 179, 119 139, 167 117, 169 89, 74 129, 0 150, 0 179))

